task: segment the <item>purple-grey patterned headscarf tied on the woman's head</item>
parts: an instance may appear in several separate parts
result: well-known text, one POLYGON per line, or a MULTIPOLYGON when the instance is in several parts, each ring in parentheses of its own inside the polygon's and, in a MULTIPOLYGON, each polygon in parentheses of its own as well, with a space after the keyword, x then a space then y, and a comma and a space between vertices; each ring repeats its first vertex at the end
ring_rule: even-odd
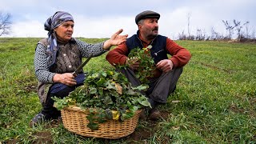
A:
POLYGON ((56 54, 58 51, 57 39, 56 39, 56 34, 54 33, 54 29, 66 21, 74 22, 72 15, 64 11, 57 11, 53 16, 48 18, 45 22, 45 30, 49 31, 48 42, 50 43, 50 46, 47 47, 47 53, 50 55, 49 58, 52 58, 53 60, 51 65, 55 63, 56 54))

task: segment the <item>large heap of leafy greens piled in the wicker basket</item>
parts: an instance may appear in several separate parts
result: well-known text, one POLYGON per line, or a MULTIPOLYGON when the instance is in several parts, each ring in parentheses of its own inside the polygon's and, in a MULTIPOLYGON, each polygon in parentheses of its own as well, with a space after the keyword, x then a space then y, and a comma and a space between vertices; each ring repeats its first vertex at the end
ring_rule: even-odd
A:
POLYGON ((91 130, 98 130, 98 123, 108 119, 125 120, 134 116, 143 106, 150 106, 140 94, 146 86, 132 87, 126 77, 112 70, 101 70, 87 75, 84 86, 78 87, 69 97, 54 98, 54 105, 62 109, 69 105, 89 110, 87 116, 91 130))

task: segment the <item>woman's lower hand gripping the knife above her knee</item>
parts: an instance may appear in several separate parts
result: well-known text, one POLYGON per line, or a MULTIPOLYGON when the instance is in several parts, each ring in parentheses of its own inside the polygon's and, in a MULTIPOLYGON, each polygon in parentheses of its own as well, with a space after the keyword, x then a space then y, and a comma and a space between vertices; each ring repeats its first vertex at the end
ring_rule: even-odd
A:
POLYGON ((77 84, 76 80, 74 79, 74 75, 71 73, 55 74, 53 80, 54 82, 63 83, 66 86, 74 86, 77 84))

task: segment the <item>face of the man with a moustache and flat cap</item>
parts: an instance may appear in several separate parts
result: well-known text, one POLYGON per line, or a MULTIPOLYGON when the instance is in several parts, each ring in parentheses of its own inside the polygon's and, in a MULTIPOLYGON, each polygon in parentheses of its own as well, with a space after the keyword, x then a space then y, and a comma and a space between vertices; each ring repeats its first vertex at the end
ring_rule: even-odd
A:
POLYGON ((155 38, 158 35, 158 18, 144 19, 139 29, 148 40, 155 38))

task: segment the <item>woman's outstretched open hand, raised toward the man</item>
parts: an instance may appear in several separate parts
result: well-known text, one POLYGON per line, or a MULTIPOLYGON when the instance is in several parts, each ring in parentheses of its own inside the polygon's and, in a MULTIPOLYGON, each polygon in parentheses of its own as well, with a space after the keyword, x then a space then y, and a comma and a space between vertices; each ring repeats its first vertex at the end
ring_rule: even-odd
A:
POLYGON ((128 37, 128 34, 126 35, 119 35, 122 33, 122 29, 118 30, 116 33, 114 33, 110 39, 106 40, 104 42, 103 49, 109 50, 111 46, 120 45, 122 42, 126 42, 126 39, 128 37))

